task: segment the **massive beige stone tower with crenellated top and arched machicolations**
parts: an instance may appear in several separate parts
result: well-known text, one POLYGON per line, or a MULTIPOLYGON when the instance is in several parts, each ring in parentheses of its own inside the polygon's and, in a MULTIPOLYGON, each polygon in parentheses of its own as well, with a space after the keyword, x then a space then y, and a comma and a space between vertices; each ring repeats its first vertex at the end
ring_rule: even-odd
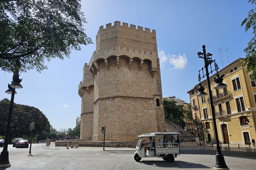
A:
POLYGON ((96 51, 85 63, 80 139, 137 141, 165 131, 156 32, 119 21, 99 28, 96 51))

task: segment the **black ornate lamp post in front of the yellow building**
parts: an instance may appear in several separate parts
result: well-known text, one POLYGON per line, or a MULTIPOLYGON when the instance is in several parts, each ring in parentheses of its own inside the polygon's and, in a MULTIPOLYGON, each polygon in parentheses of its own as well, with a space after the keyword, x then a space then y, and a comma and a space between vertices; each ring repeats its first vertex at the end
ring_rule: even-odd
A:
MULTIPOLYGON (((219 137, 218 137, 218 130, 217 130, 217 126, 216 126, 216 119, 215 119, 215 112, 214 112, 214 107, 213 107, 213 100, 212 100, 212 93, 211 93, 211 85, 210 85, 210 78, 209 78, 209 71, 208 71, 208 66, 210 65, 211 67, 211 63, 215 63, 215 60, 212 60, 212 54, 211 53, 207 53, 206 54, 206 49, 205 49, 205 45, 202 46, 203 47, 203 53, 202 52, 198 52, 198 57, 199 58, 203 58, 204 59, 204 68, 205 68, 205 75, 206 75, 206 79, 207 79, 207 85, 208 85, 208 91, 209 91, 209 99, 210 99, 210 106, 211 106, 211 111, 212 111, 212 123, 213 123, 213 128, 214 128, 214 133, 215 133, 215 139, 216 139, 216 149, 217 149, 217 153, 216 153, 216 162, 215 162, 215 167, 213 169, 215 170, 229 170, 229 168, 226 165, 224 156, 221 153, 221 149, 220 149, 220 143, 219 143, 219 137)), ((202 68, 202 71, 203 69, 202 68)), ((219 77, 218 74, 218 65, 215 63, 215 70, 217 71, 217 78, 214 78, 214 81, 216 82, 216 85, 214 86, 214 89, 222 89, 224 87, 226 87, 227 85, 222 83, 223 78, 219 77)), ((199 70, 199 82, 201 79, 200 76, 200 71, 199 70)), ((211 73, 214 70, 211 69, 211 73)), ((203 72, 204 74, 204 72, 203 72)), ((204 77, 204 75, 203 75, 204 77)), ((200 83, 201 86, 201 83, 200 83)), ((207 94, 205 92, 203 92, 202 89, 200 89, 200 87, 198 88, 200 91, 198 92, 197 96, 206 96, 207 94), (203 93, 202 93, 203 92, 203 93)))

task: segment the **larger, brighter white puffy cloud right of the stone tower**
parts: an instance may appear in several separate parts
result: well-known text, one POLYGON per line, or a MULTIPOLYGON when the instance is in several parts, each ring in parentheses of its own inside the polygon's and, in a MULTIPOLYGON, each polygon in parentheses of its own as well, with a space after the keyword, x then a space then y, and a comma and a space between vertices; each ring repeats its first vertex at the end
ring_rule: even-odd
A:
POLYGON ((169 70, 183 69, 187 64, 188 59, 185 53, 183 55, 179 54, 179 56, 172 54, 172 58, 170 58, 169 62, 174 66, 174 68, 170 68, 169 70))

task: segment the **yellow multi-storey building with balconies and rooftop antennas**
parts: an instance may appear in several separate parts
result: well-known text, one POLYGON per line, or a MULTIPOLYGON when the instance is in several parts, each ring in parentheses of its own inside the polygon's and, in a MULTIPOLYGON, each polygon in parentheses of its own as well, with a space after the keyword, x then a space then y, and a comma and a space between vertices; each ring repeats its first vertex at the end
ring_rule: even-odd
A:
MULTIPOLYGON (((250 79, 251 73, 246 73, 247 68, 243 67, 243 61, 244 58, 238 58, 219 70, 219 76, 223 77, 223 83, 227 85, 224 89, 214 89, 216 75, 213 74, 210 77, 216 125, 221 143, 245 145, 249 144, 252 138, 256 139, 256 85, 250 79)), ((201 84, 205 87, 204 92, 207 96, 197 97, 198 113, 200 113, 204 140, 214 143, 215 135, 207 81, 204 80, 201 84)), ((199 84, 195 86, 195 88, 198 87, 199 84)), ((190 100, 192 98, 195 100, 195 95, 189 94, 190 100)), ((193 117, 195 118, 194 112, 193 117)))

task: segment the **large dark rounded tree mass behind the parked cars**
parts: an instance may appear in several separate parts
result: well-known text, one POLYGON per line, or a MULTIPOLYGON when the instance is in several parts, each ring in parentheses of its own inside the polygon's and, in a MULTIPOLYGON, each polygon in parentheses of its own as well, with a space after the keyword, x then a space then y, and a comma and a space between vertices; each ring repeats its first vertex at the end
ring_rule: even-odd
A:
MULTIPOLYGON (((0 135, 5 135, 7 117, 9 113, 10 100, 3 99, 0 101, 0 135)), ((10 129, 10 140, 13 137, 30 138, 30 123, 35 122, 34 136, 46 129, 48 119, 37 108, 13 104, 13 114, 10 129)))

